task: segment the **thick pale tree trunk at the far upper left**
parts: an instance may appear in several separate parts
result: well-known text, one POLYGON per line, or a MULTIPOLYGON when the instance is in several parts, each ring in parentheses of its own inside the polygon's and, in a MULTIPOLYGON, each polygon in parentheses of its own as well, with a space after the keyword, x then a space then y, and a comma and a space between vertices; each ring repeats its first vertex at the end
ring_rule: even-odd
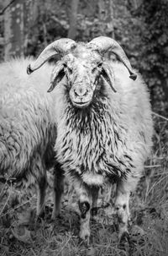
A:
MULTIPOLYGON (((6 5, 11 1, 5 0, 6 5)), ((24 55, 24 1, 15 0, 4 14, 5 60, 24 55)))

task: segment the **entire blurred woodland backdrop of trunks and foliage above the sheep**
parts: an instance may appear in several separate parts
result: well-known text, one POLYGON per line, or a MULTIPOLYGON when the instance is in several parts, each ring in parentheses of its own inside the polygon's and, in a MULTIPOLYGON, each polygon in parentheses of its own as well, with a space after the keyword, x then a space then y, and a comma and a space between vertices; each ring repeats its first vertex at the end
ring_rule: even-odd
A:
POLYGON ((167 0, 1 0, 0 61, 36 57, 51 41, 69 37, 117 40, 150 88, 155 112, 168 111, 167 0))

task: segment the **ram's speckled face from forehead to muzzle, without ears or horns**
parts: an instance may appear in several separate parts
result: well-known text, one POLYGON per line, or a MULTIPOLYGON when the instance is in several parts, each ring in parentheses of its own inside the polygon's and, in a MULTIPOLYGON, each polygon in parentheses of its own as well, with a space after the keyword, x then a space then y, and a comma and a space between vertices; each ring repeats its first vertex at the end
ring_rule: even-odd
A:
POLYGON ((82 57, 73 56, 72 61, 66 63, 66 77, 70 86, 71 102, 79 108, 87 107, 92 102, 102 71, 100 57, 93 61, 87 55, 86 58, 82 57))

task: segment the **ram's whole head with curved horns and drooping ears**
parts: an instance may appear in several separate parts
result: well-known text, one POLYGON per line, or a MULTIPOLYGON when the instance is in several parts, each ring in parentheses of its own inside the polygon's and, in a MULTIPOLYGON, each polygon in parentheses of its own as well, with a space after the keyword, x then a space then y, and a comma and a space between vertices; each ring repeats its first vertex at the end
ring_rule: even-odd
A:
POLYGON ((63 77, 67 79, 67 87, 71 102, 74 106, 83 108, 88 106, 94 97, 99 79, 108 83, 113 91, 114 76, 112 68, 103 62, 105 52, 115 53, 121 62, 128 68, 130 78, 136 79, 131 65, 121 46, 113 39, 100 36, 87 44, 76 44, 70 39, 60 39, 45 48, 33 65, 29 65, 28 74, 39 68, 55 54, 62 56, 51 74, 50 89, 60 83, 63 77))

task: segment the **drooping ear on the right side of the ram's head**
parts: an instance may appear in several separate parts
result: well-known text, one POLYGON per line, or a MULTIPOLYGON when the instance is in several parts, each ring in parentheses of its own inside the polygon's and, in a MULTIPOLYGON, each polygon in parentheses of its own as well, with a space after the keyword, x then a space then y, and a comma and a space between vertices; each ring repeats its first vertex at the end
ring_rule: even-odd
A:
POLYGON ((102 65, 102 73, 101 73, 102 79, 110 85, 112 90, 114 92, 117 92, 114 88, 114 74, 113 74, 113 69, 108 66, 108 63, 103 63, 102 65))

